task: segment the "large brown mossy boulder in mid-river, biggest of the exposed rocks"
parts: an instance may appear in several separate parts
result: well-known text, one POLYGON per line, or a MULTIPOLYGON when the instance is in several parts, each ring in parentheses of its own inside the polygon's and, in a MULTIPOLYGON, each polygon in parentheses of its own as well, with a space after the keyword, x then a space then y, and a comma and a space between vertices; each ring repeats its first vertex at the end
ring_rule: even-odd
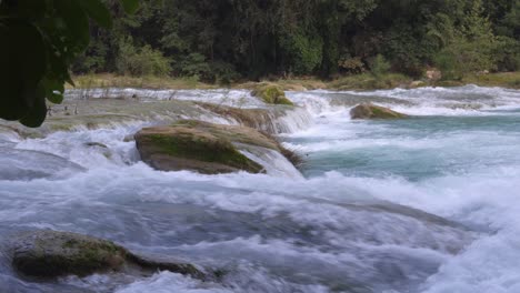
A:
POLYGON ((240 151, 248 145, 280 151, 277 141, 254 129, 194 120, 146 128, 134 137, 141 159, 162 171, 261 173, 263 168, 240 151))

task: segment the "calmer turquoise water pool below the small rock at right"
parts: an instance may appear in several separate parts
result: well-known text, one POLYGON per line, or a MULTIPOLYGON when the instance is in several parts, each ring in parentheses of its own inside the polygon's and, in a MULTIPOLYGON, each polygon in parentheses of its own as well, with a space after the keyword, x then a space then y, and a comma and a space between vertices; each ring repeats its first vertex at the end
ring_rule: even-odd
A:
POLYGON ((292 135, 287 142, 304 153, 303 173, 310 178, 339 171, 349 176, 420 181, 520 165, 516 155, 520 113, 338 121, 317 127, 312 134, 292 135))

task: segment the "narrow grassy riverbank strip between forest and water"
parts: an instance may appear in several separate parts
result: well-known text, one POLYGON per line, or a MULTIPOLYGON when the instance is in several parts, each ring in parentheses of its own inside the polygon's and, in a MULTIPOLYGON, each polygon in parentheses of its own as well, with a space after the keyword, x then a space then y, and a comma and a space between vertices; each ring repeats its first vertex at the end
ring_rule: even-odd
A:
POLYGON ((431 81, 427 79, 412 79, 407 75, 389 73, 374 77, 369 73, 346 75, 333 80, 319 80, 317 78, 294 78, 264 80, 260 82, 238 82, 232 84, 210 84, 190 78, 159 78, 159 77, 122 77, 111 73, 86 74, 73 78, 76 88, 140 88, 140 89, 170 89, 170 90, 210 90, 210 89, 253 89, 258 83, 271 82, 286 91, 306 90, 388 90, 393 88, 422 88, 422 87, 461 87, 476 84, 479 87, 500 87, 520 89, 520 72, 501 72, 489 74, 467 75, 462 80, 431 81))

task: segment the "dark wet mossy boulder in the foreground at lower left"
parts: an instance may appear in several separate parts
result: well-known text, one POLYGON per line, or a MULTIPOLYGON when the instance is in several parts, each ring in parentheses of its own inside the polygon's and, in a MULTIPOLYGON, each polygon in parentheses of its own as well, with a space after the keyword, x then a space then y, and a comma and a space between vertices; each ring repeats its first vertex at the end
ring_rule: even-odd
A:
POLYGON ((121 271, 130 265, 151 271, 168 270, 194 277, 203 276, 191 264, 153 261, 110 241, 70 232, 27 232, 14 238, 11 245, 14 269, 28 276, 86 276, 121 271))

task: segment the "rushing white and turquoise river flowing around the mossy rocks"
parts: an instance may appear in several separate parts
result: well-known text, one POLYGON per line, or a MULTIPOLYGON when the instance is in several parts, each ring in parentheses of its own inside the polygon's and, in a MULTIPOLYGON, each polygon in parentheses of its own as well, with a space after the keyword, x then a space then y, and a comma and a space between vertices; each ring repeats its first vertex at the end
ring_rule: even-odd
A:
MULTIPOLYGON (((243 91, 123 92, 263 107, 243 91)), ((520 91, 288 97, 301 109, 279 118, 279 138, 303 156, 302 175, 269 154, 258 159, 268 174, 154 171, 126 139, 153 120, 0 132, 0 242, 71 231, 223 274, 33 282, 0 250, 0 292, 520 292, 520 91), (350 120, 363 101, 412 118, 350 120)))

